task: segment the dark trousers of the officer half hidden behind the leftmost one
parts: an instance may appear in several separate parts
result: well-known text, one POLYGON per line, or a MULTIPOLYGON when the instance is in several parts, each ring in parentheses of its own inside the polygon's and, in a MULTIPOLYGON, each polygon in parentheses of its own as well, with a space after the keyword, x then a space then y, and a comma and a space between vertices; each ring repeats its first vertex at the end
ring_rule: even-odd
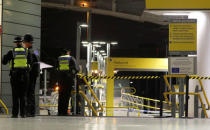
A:
POLYGON ((36 113, 35 104, 35 86, 36 86, 37 76, 30 74, 29 85, 27 90, 27 115, 34 116, 36 113))

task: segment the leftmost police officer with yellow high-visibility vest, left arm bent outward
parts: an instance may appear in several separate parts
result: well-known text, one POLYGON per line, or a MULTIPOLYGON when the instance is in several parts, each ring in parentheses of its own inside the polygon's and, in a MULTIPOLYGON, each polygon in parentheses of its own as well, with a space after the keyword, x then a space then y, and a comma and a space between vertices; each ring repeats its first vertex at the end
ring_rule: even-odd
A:
POLYGON ((22 47, 21 37, 15 37, 15 46, 3 56, 3 64, 10 64, 10 82, 12 86, 12 118, 17 118, 20 108, 20 116, 25 117, 26 90, 29 81, 29 69, 31 54, 28 49, 22 47))

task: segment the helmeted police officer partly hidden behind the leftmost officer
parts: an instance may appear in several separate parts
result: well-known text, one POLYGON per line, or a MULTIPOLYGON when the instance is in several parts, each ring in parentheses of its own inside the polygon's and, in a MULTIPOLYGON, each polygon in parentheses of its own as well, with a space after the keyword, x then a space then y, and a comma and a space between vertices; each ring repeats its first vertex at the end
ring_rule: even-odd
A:
POLYGON ((38 60, 38 54, 35 53, 34 50, 32 50, 34 38, 30 34, 26 34, 23 39, 23 45, 25 48, 28 48, 28 50, 31 52, 32 55, 32 63, 31 63, 31 69, 29 72, 29 87, 27 91, 27 116, 28 117, 34 117, 36 113, 36 105, 35 105, 35 86, 36 86, 36 80, 39 75, 39 60, 38 60))

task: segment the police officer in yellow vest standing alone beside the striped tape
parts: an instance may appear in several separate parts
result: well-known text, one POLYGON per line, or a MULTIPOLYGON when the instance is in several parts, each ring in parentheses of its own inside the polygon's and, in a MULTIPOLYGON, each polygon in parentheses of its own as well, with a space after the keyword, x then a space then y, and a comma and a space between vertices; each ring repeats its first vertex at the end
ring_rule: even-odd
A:
POLYGON ((68 115, 69 99, 71 96, 74 77, 79 72, 79 67, 74 57, 70 56, 70 50, 64 50, 63 55, 58 58, 59 71, 59 98, 58 98, 58 115, 68 115))

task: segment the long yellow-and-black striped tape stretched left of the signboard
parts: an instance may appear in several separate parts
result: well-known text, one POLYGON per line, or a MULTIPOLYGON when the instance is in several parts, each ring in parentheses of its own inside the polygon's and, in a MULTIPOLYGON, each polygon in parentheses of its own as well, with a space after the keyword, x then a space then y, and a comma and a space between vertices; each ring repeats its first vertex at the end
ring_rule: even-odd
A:
POLYGON ((160 79, 160 76, 84 76, 79 75, 79 78, 87 79, 160 79))

